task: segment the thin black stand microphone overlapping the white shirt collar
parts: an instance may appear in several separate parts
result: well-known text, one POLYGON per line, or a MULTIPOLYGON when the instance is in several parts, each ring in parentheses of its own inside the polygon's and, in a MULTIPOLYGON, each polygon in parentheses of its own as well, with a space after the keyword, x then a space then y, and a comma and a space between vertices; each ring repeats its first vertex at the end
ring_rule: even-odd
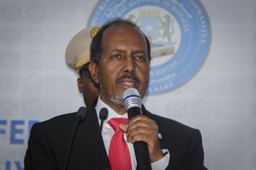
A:
POLYGON ((98 170, 98 159, 99 159, 98 152, 99 152, 99 143, 100 143, 101 134, 102 134, 102 127, 103 127, 103 122, 108 118, 108 109, 103 107, 100 111, 99 117, 101 119, 101 125, 100 125, 100 132, 96 139, 96 170, 98 170))

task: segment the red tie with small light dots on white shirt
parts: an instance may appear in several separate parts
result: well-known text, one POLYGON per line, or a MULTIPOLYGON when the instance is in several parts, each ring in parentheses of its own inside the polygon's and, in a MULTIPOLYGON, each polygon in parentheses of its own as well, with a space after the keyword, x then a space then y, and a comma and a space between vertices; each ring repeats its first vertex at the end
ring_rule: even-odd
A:
POLYGON ((131 170, 130 151, 125 143, 124 133, 119 129, 119 124, 126 122, 128 122, 126 118, 112 118, 108 121, 114 130, 108 151, 108 159, 112 170, 131 170))

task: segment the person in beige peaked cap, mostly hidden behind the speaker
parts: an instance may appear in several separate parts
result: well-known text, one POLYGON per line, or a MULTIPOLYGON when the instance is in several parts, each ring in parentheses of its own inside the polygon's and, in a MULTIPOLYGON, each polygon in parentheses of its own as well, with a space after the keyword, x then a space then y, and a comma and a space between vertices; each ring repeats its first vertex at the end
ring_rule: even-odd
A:
POLYGON ((86 107, 92 105, 94 99, 99 95, 99 89, 92 81, 88 70, 90 62, 90 42, 98 29, 99 27, 96 26, 79 31, 68 43, 66 49, 67 65, 79 74, 77 80, 79 92, 83 94, 86 107))

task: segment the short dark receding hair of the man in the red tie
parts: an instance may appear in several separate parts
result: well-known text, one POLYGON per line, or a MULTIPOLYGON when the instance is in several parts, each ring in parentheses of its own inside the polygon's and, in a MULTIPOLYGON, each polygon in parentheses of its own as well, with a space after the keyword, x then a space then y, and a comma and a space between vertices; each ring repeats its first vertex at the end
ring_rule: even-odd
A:
MULTIPOLYGON (((114 24, 126 24, 129 26, 133 26, 136 27, 138 30, 140 30, 140 28, 133 22, 131 22, 130 20, 124 20, 124 19, 115 19, 115 20, 110 20, 108 21, 106 24, 104 24, 102 26, 102 28, 96 33, 96 36, 93 37, 91 43, 90 43, 90 60, 96 62, 96 65, 98 65, 101 57, 102 57, 102 35, 103 32, 109 27, 112 26, 114 24)), ((142 31, 143 33, 143 31, 142 31)), ((151 55, 150 55, 150 42, 148 41, 148 37, 146 37, 144 34, 143 36, 146 39, 147 42, 147 51, 148 51, 148 61, 150 61, 151 59, 151 55)))

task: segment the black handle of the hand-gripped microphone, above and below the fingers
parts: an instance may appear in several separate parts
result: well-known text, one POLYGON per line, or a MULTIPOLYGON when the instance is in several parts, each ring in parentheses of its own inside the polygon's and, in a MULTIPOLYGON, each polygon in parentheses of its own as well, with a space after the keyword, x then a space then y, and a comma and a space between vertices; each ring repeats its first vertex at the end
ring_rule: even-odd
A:
MULTIPOLYGON (((134 116, 141 114, 141 109, 139 107, 131 107, 128 109, 128 117, 131 119, 134 116)), ((148 144, 143 141, 137 141, 133 144, 134 152, 137 160, 137 168, 139 170, 151 170, 151 162, 148 151, 148 144)))

